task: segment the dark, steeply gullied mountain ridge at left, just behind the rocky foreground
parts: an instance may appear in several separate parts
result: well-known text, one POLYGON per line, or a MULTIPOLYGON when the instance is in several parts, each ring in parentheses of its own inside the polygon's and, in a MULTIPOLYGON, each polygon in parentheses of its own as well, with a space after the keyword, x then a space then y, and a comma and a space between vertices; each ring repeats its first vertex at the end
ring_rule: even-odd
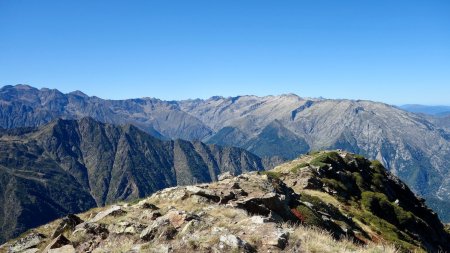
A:
POLYGON ((2 130, 0 150, 0 241, 68 213, 263 169, 243 149, 161 141, 92 118, 2 130))

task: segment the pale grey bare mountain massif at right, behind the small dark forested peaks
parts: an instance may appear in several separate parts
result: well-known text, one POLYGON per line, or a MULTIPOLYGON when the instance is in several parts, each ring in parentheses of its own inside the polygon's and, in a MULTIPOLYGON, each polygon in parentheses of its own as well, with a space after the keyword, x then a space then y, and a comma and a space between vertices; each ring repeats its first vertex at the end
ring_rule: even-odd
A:
MULTIPOLYGON (((227 143, 236 136, 239 142, 230 144, 248 148, 252 140, 267 138, 260 135, 276 122, 307 143, 292 147, 340 148, 376 158, 450 220, 445 209, 450 204, 446 180, 450 178, 450 135, 419 115, 370 101, 305 100, 295 95, 216 97, 181 101, 180 107, 217 132, 208 140, 211 143, 227 143)), ((273 146, 289 149, 277 134, 272 138, 273 146)))

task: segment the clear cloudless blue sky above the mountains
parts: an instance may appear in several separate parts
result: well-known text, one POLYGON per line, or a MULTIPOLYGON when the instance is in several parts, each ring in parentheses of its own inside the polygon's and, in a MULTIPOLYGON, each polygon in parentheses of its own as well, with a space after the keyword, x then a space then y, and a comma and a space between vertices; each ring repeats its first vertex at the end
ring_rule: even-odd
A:
POLYGON ((449 0, 0 0, 0 85, 450 105, 449 0))

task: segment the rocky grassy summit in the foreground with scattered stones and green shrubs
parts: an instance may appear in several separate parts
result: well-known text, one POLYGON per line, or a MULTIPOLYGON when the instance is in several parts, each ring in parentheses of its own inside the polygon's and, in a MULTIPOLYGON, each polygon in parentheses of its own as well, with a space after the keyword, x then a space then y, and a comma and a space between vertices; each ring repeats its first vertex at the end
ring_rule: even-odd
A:
POLYGON ((377 161, 342 151, 32 229, 1 252, 448 252, 437 215, 377 161))

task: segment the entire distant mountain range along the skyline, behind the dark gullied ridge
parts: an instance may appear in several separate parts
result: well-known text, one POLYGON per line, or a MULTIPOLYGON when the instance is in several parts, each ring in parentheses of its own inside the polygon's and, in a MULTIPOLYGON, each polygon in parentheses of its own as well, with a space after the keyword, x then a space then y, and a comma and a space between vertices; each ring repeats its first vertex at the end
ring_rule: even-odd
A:
POLYGON ((26 85, 0 89, 0 127, 35 127, 55 118, 133 124, 160 139, 200 140, 292 159, 344 149, 377 159, 450 221, 450 131, 446 122, 360 100, 280 96, 162 101, 104 100, 26 85))

